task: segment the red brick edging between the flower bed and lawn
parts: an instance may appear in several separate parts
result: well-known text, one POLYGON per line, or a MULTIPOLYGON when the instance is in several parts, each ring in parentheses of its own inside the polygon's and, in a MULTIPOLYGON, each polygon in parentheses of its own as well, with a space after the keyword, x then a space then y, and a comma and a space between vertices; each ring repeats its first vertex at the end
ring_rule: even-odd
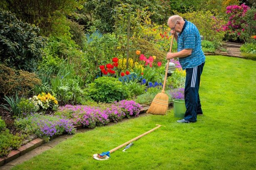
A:
MULTIPOLYGON (((140 114, 147 112, 149 109, 149 106, 143 107, 140 110, 140 114)), ((83 129, 83 125, 74 126, 76 129, 83 129)), ((57 137, 57 136, 56 136, 57 137)), ((61 137, 61 136, 58 136, 61 137)), ((9 163, 10 161, 24 155, 25 153, 32 151, 33 149, 41 146, 45 141, 41 138, 36 138, 29 143, 20 146, 20 148, 17 148, 17 150, 12 150, 6 157, 0 158, 0 167, 2 165, 5 165, 6 163, 9 163)))

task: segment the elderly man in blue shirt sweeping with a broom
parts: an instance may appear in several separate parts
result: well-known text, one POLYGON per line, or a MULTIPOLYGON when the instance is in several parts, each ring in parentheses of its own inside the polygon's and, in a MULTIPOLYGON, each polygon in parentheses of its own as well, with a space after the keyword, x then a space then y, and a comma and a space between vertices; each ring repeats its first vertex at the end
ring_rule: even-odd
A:
POLYGON ((184 90, 186 113, 184 119, 177 122, 196 122, 197 115, 203 114, 198 92, 205 63, 200 34, 193 23, 184 20, 179 15, 169 17, 167 24, 178 43, 178 52, 167 53, 167 59, 179 58, 182 69, 186 70, 184 90))

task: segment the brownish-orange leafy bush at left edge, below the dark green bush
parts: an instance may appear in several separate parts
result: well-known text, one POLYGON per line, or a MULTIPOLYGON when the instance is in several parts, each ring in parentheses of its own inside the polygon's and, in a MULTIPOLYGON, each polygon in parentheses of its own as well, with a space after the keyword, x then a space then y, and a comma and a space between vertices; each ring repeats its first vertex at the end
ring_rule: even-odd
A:
POLYGON ((41 80, 35 73, 22 70, 14 70, 0 64, 0 96, 18 94, 27 95, 35 85, 40 85, 41 80))

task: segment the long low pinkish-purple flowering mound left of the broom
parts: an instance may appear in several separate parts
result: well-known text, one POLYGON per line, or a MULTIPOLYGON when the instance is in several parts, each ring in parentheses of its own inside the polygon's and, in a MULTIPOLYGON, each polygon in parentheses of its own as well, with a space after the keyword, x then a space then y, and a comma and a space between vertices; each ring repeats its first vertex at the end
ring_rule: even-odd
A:
POLYGON ((108 107, 90 107, 85 105, 66 105, 60 107, 55 114, 70 119, 73 124, 83 124, 85 127, 94 128, 104 126, 109 121, 120 121, 125 116, 138 116, 141 106, 134 101, 122 100, 114 102, 108 107))

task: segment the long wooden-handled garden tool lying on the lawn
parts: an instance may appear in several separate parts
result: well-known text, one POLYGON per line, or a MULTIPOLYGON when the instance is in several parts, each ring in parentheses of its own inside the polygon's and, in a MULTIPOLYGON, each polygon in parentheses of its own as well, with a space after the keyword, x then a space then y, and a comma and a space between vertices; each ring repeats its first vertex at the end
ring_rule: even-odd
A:
POLYGON ((99 154, 99 153, 94 154, 94 155, 93 155, 93 158, 96 159, 96 160, 107 160, 107 159, 109 159, 110 153, 113 153, 114 151, 117 151, 118 149, 120 149, 120 148, 122 148, 122 147, 128 145, 129 143, 132 143, 133 141, 136 141, 137 139, 141 138, 142 136, 145 136, 145 135, 149 134, 150 132, 152 132, 152 131, 154 131, 154 130, 156 130, 156 129, 158 129, 159 127, 162 126, 162 125, 160 125, 160 124, 156 124, 156 125, 157 125, 157 127, 155 127, 154 129, 151 129, 151 130, 145 132, 144 134, 141 134, 141 135, 137 136, 136 138, 133 138, 132 140, 130 140, 130 141, 128 141, 128 142, 125 142, 125 143, 123 143, 122 145, 117 146, 116 148, 114 148, 114 149, 112 149, 112 150, 110 150, 110 151, 102 152, 101 154, 99 154))

